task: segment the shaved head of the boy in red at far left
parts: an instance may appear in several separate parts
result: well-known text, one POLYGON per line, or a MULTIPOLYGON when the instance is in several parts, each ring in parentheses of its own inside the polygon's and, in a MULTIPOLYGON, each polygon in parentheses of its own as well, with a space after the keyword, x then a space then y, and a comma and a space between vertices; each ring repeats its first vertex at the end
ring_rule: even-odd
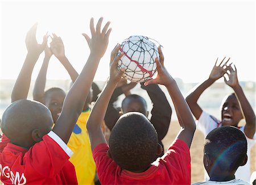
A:
POLYGON ((51 131, 51 112, 42 103, 31 100, 18 100, 11 103, 3 112, 2 132, 18 146, 30 148, 51 131))

